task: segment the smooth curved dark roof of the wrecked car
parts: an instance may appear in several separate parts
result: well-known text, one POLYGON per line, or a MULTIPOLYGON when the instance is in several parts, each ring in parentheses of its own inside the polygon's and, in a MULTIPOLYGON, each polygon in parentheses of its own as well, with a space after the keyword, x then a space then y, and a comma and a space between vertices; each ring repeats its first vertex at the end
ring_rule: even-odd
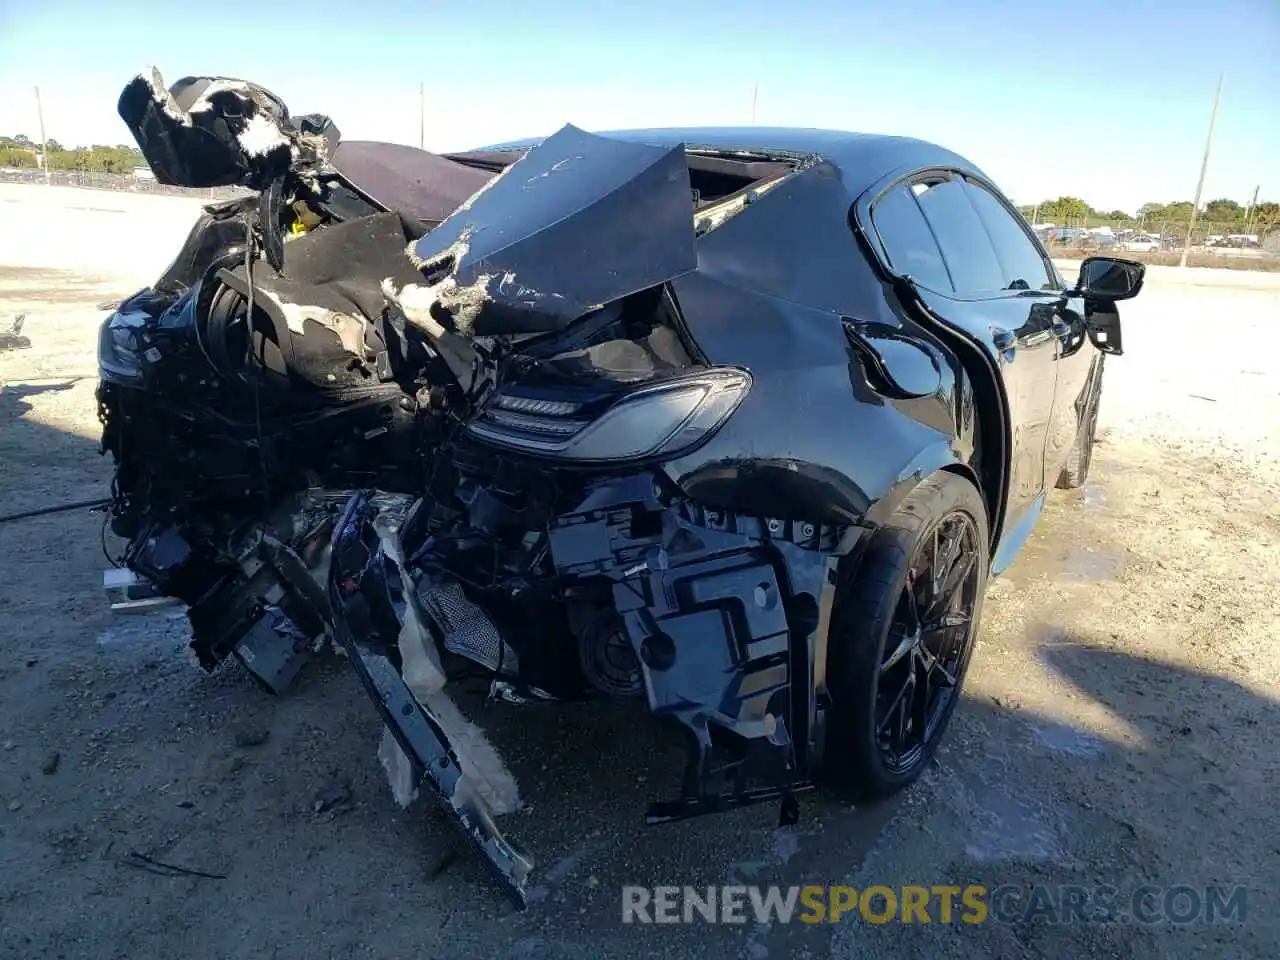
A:
MULTIPOLYGON (((685 143, 691 150, 818 156, 838 166, 846 184, 852 188, 870 186, 896 170, 923 166, 955 166, 986 175, 972 161, 936 143, 884 133, 854 133, 809 127, 663 127, 593 132, 612 140, 664 147, 685 143)), ((527 148, 543 140, 538 137, 499 143, 452 156, 465 157, 467 154, 527 148)))

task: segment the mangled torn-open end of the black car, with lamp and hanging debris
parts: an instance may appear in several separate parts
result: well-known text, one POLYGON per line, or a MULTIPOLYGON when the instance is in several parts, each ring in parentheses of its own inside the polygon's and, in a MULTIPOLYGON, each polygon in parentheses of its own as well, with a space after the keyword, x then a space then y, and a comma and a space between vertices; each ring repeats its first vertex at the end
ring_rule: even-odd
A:
POLYGON ((200 663, 273 692, 339 648, 398 799, 439 799, 518 902, 531 864, 495 823, 518 799, 456 750, 442 694, 463 668, 512 707, 643 698, 675 722, 684 787, 652 822, 794 819, 864 527, 838 500, 767 509, 723 479, 741 457, 692 465, 756 372, 708 356, 676 282, 718 283, 700 244, 813 160, 573 127, 470 155, 344 143, 221 78, 140 77, 119 109, 161 182, 248 195, 101 329, 116 605, 180 600, 200 663))

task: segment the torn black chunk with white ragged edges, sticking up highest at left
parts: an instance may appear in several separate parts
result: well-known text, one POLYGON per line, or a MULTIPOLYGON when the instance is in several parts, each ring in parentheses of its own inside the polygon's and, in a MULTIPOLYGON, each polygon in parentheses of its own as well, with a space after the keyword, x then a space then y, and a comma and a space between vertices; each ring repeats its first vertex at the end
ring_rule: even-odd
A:
POLYGON ((125 84, 116 111, 156 179, 175 187, 257 188, 323 163, 339 138, 328 116, 292 118, 256 83, 183 77, 166 88, 154 68, 125 84))

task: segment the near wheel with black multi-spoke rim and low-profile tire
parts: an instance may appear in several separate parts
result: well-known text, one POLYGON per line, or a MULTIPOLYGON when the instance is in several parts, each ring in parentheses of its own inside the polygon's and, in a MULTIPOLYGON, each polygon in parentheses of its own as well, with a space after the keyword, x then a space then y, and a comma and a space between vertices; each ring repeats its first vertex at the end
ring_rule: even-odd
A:
POLYGON ((943 471, 916 486, 856 566, 841 571, 823 760, 823 780, 840 795, 887 797, 933 756, 982 616, 987 540, 982 495, 943 471))

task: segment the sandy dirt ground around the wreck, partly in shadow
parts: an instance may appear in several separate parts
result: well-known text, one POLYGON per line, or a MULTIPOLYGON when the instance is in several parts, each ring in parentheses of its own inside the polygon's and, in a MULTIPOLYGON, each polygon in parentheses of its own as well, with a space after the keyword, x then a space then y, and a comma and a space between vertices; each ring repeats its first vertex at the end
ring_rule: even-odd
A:
MULTIPOLYGON (((14 241, 20 206, 0 195, 0 324, 26 314, 33 342, 0 353, 0 513, 105 494, 95 307, 150 279, 193 216, 156 214, 168 246, 59 271, 14 241)), ((129 220, 101 212, 96 236, 129 220)), ((180 614, 105 609, 101 515, 0 525, 0 957, 1280 956, 1280 288, 1153 271, 1123 316, 1093 476, 1050 497, 992 580, 964 701, 897 800, 806 797, 791 828, 772 808, 650 828, 677 754, 635 712, 468 703, 530 801, 506 818, 538 861, 525 913, 421 801, 394 805, 340 660, 283 699, 238 668, 205 676, 180 614), (1217 884, 1247 908, 620 922, 623 884, 721 883, 1110 886, 1121 905, 1217 884)))

